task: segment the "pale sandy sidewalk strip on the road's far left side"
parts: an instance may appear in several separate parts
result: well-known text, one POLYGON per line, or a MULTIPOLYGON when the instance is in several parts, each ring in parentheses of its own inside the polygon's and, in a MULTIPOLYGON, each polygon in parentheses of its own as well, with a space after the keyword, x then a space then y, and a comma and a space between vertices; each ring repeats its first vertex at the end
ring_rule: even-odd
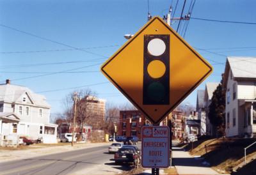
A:
POLYGON ((85 143, 85 144, 74 144, 72 147, 71 145, 65 146, 38 146, 35 148, 36 145, 31 145, 31 149, 22 149, 22 150, 0 150, 0 163, 1 162, 8 162, 12 160, 21 160, 25 158, 33 158, 36 156, 43 156, 43 155, 50 155, 54 153, 61 153, 66 151, 74 151, 78 149, 84 148, 92 148, 95 146, 105 146, 109 145, 109 142, 102 142, 102 143, 85 143))

